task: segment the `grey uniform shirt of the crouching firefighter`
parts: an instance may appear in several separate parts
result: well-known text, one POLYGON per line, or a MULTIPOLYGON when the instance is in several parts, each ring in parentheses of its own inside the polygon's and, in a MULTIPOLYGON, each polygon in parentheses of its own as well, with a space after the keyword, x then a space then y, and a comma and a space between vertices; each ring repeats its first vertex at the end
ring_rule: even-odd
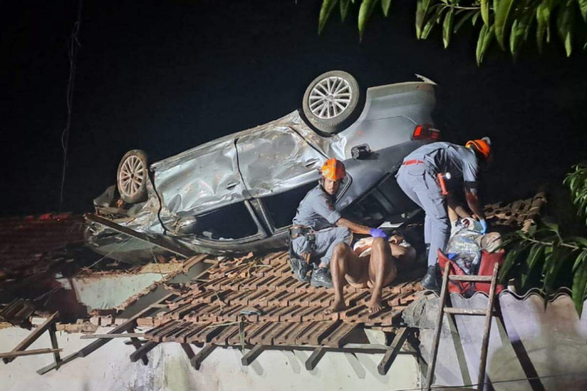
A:
POLYGON ((333 227, 340 217, 340 213, 334 208, 332 197, 318 185, 299 203, 294 225, 309 226, 318 231, 333 227))

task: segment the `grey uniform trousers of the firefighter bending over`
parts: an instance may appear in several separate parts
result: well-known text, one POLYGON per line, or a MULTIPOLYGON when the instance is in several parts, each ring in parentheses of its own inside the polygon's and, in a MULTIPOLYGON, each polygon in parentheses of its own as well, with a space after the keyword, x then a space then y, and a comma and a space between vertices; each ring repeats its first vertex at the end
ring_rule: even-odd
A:
POLYGON ((424 242, 430 244, 428 265, 434 265, 437 262, 437 250, 444 251, 450 234, 446 202, 440 187, 426 164, 401 166, 397 172, 397 184, 426 212, 424 242))

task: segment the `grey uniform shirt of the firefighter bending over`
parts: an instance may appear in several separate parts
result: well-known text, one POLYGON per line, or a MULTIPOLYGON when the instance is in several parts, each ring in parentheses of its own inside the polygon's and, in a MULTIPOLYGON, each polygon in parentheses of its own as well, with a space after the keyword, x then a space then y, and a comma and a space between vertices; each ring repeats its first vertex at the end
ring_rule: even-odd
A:
POLYGON ((425 162, 434 174, 450 172, 453 178, 463 178, 468 188, 477 187, 479 165, 471 148, 444 141, 432 142, 411 152, 404 161, 413 159, 425 162))

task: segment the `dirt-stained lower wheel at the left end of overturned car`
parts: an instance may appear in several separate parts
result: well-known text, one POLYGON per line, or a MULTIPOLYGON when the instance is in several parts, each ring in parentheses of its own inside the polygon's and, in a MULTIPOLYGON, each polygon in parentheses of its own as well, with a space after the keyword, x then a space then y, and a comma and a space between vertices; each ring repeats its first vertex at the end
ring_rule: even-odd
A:
POLYGON ((124 202, 137 203, 147 199, 147 170, 147 153, 141 149, 131 149, 120 159, 116 186, 124 202))

